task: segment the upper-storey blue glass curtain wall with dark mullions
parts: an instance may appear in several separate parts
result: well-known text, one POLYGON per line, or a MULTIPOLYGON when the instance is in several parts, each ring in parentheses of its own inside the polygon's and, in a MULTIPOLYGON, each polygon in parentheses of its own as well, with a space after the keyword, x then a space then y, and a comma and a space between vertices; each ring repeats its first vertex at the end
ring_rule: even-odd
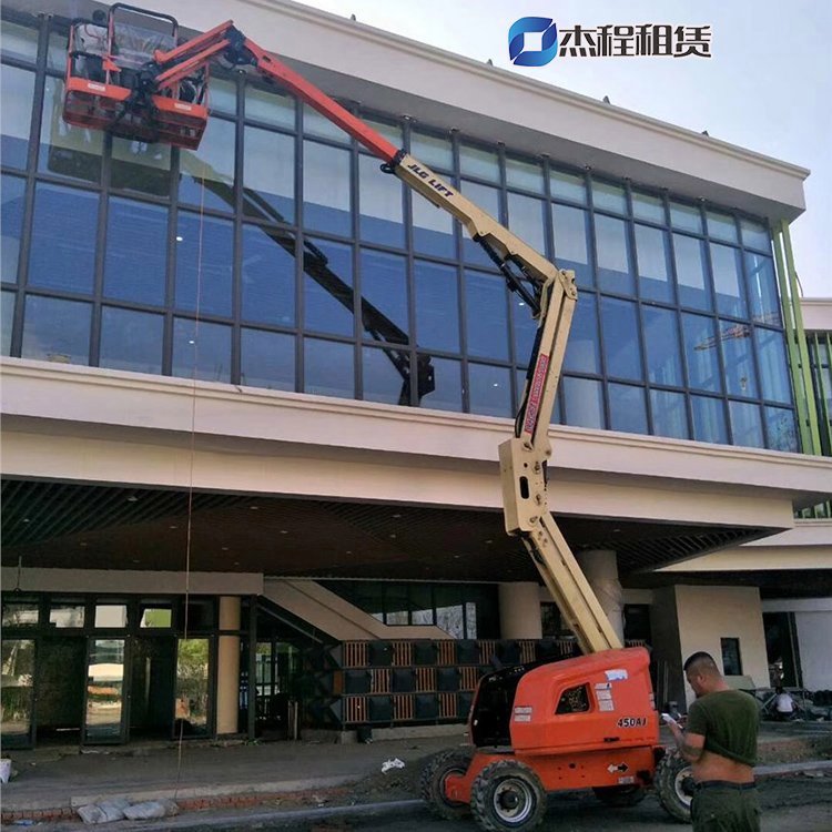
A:
MULTIPOLYGON (((514 414, 535 325, 456 221, 242 75, 196 151, 70 128, 65 32, 29 22, 3 21, 3 354, 514 414)), ((798 449, 764 222, 353 110, 575 270, 555 420, 798 449)))

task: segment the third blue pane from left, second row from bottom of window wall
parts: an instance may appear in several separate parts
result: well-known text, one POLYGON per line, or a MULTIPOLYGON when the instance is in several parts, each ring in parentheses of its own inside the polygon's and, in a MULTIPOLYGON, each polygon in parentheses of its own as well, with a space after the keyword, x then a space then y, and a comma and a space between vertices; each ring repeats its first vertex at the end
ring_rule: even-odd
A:
MULTIPOLYGON (((197 236, 195 230, 191 236, 197 236)), ((195 263, 194 254, 194 266, 195 263)), ((104 295, 163 306, 166 272, 168 209, 111 197, 104 295)))

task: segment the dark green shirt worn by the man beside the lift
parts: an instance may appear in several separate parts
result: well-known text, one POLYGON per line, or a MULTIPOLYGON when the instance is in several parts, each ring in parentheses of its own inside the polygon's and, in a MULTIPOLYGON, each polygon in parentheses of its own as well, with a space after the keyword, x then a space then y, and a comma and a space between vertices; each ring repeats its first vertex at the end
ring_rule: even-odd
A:
POLYGON ((693 702, 686 730, 704 737, 706 751, 754 765, 759 724, 753 697, 741 690, 718 690, 693 702))

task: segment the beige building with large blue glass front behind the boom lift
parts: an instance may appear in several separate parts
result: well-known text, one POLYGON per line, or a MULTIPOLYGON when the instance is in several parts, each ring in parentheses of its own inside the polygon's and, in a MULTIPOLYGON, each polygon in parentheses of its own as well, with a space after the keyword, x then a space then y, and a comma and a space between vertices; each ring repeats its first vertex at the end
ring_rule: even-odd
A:
MULTIPOLYGON (((242 72, 212 75, 195 151, 69 126, 78 6, 3 10, 4 738, 458 721, 494 656, 570 649, 499 511, 528 310, 458 223, 242 72)), ((808 172, 303 6, 229 6, 575 270, 552 510, 660 699, 694 649, 768 686, 771 616, 828 623, 832 595, 832 325, 806 341, 789 290, 808 172)), ((832 687, 815 625, 793 683, 832 687)))

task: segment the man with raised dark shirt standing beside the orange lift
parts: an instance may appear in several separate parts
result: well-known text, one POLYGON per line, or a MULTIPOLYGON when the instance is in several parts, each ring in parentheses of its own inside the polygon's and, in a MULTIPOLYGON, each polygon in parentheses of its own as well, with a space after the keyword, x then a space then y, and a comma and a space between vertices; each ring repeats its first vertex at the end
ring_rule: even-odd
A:
POLYGON ((759 832, 753 774, 760 722, 757 702, 728 687, 709 653, 693 653, 684 662, 684 676, 697 694, 686 729, 670 717, 664 721, 693 770, 693 830, 759 832))

